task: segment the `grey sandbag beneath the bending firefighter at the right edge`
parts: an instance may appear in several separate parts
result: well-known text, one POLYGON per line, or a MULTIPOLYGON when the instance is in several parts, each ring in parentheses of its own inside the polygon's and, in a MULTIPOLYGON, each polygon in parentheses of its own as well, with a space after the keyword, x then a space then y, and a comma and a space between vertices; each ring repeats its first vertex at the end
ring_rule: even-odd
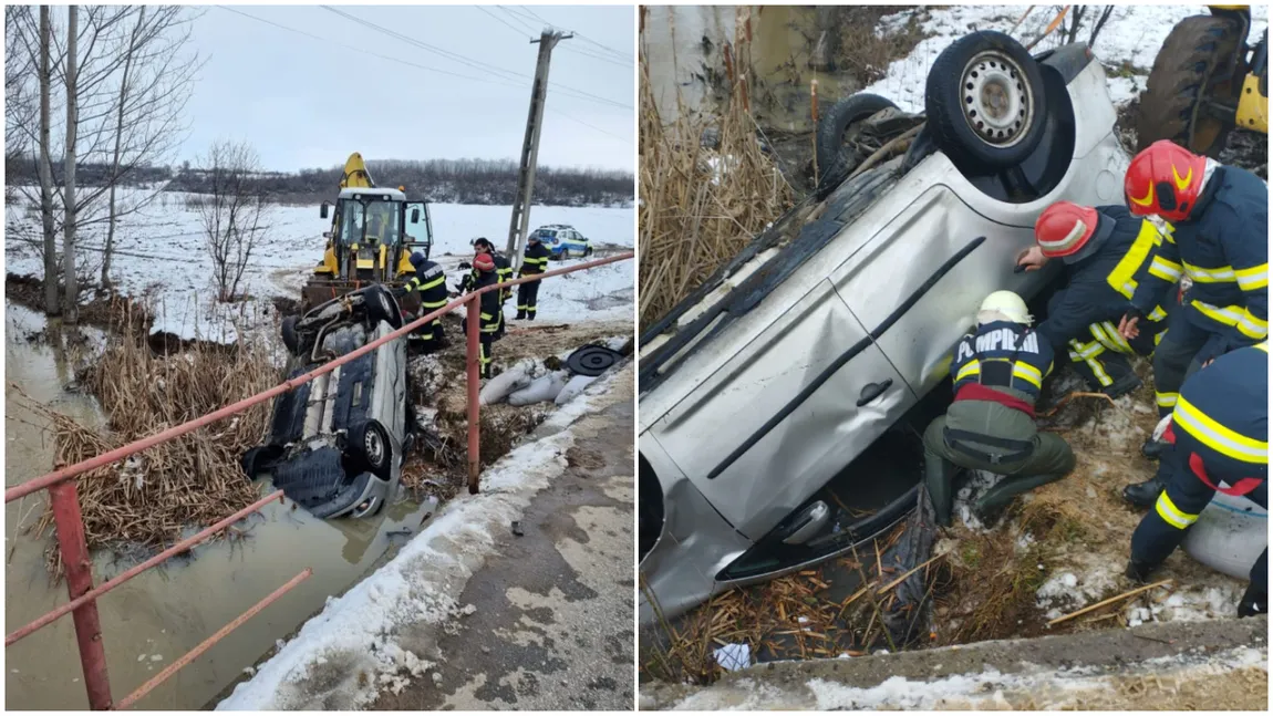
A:
POLYGON ((1181 548, 1198 562, 1240 580, 1269 543, 1269 514, 1246 497, 1217 492, 1189 528, 1181 548))

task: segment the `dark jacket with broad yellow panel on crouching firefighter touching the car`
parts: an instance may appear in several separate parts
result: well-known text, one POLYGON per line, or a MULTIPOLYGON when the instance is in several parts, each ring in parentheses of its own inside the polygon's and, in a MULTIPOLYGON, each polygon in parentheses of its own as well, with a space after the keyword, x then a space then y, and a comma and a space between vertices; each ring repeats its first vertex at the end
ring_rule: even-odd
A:
MULTIPOLYGON (((1118 333, 1118 320, 1127 313, 1137 286, 1150 275, 1150 262, 1162 244, 1162 234, 1152 221, 1133 216, 1125 206, 1097 206, 1096 211, 1100 219, 1092 240, 1100 244, 1067 267, 1069 285, 1035 331, 1059 351, 1071 338, 1086 336, 1090 326, 1111 322, 1113 326, 1099 328, 1106 336, 1096 338, 1110 350, 1130 354, 1118 333)), ((1152 320, 1166 317, 1157 305, 1146 313, 1152 320)))

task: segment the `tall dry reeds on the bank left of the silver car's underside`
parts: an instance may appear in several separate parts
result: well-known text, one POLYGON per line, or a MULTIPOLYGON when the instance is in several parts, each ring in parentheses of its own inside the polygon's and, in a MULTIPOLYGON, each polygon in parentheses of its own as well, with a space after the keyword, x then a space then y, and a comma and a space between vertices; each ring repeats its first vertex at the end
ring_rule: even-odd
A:
POLYGON ((691 114, 677 102, 673 121, 659 116, 642 51, 642 328, 671 310, 792 205, 791 186, 761 150, 747 108, 746 42, 737 51, 728 45, 723 51, 728 100, 714 114, 691 114), (709 128, 719 137, 714 149, 700 141, 709 128))

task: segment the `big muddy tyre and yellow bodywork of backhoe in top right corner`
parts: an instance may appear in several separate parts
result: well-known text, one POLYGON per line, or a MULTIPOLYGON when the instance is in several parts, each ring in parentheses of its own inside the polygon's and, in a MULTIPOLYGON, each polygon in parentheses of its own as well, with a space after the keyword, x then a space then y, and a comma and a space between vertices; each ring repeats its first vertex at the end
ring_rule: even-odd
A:
POLYGON ((1137 150, 1169 139, 1218 158, 1236 127, 1268 135, 1268 29, 1255 45, 1249 5, 1208 5, 1171 29, 1137 118, 1137 150))

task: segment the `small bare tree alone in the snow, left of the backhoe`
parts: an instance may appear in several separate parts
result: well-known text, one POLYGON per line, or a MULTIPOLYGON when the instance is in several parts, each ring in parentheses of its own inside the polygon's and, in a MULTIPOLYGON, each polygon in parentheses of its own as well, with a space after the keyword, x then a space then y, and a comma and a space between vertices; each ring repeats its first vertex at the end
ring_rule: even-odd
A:
POLYGON ((213 259, 216 300, 233 301, 239 298, 239 284, 256 242, 266 230, 269 202, 253 177, 261 163, 246 142, 220 140, 200 164, 210 179, 210 189, 207 196, 199 197, 196 206, 213 259))

